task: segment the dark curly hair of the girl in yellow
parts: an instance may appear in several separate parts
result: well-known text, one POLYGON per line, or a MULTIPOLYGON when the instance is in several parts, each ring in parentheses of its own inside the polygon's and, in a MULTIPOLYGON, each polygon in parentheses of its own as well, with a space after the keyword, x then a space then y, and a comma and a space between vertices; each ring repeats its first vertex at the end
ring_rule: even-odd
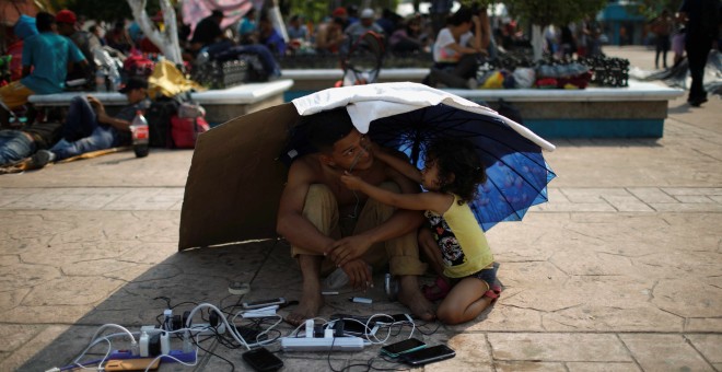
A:
POLYGON ((458 204, 470 201, 487 173, 475 146, 466 139, 438 138, 427 146, 426 161, 439 164, 440 191, 458 195, 458 204), (453 175, 453 179, 452 179, 453 175))

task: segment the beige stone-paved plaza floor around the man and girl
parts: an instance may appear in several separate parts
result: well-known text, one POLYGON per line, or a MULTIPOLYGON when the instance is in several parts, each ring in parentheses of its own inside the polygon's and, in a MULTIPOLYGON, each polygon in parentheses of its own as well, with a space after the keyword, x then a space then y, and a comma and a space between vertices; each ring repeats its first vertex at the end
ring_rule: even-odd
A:
MULTIPOLYGON (((641 47, 605 51, 653 66, 641 47)), ((552 141, 549 202, 488 232, 501 299, 468 324, 420 325, 415 336, 457 353, 427 369, 722 371, 722 101, 685 100, 669 102, 661 139, 552 141)), ((234 280, 251 283, 244 301, 298 300, 300 271, 282 241, 177 253, 191 155, 121 152, 0 176, 0 371, 67 365, 104 324, 155 324, 165 299, 178 312, 193 309, 184 302, 233 305, 234 280)), ((404 312, 382 280, 376 272, 368 293, 328 297, 321 316, 404 312)), ((397 330, 391 340, 411 332, 397 330)), ((201 346, 197 365, 161 370, 249 370, 241 349, 201 346)), ((283 371, 326 371, 365 364, 379 348, 277 354, 283 371)))

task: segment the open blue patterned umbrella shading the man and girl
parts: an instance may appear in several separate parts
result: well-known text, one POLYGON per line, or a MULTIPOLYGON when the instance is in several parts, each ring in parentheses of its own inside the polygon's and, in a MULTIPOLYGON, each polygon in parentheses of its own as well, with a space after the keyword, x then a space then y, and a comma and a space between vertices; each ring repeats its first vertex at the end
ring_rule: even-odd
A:
POLYGON ((433 139, 471 141, 488 178, 469 206, 485 231, 501 221, 520 221, 529 207, 546 202, 547 184, 556 176, 542 148, 502 119, 445 104, 375 119, 368 135, 381 146, 406 153, 419 168, 433 139))

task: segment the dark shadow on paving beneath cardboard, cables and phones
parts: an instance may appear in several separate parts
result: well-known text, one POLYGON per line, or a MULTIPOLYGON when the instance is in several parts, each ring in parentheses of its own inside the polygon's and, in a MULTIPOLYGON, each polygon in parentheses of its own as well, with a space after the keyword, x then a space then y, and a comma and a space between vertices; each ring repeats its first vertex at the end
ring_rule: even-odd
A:
MULTIPOLYGON (((321 316, 329 318, 335 313, 371 315, 375 313, 398 314, 407 312, 399 303, 393 303, 386 299, 383 292, 383 277, 384 272, 374 272, 376 286, 366 293, 349 290, 339 295, 327 297, 321 316), (348 298, 352 295, 371 298, 374 303, 372 305, 350 303, 348 298)), ((431 280, 430 278, 426 279, 431 280)), ((235 306, 242 301, 277 297, 299 300, 300 294, 300 270, 290 257, 289 246, 282 241, 257 241, 176 253, 119 288, 94 310, 49 341, 47 347, 37 352, 19 370, 45 371, 53 367, 68 365, 89 345, 91 337, 100 326, 118 324, 131 332, 139 332, 139 328, 143 325, 159 324, 159 318, 162 316, 166 303, 177 306, 173 310, 174 314, 190 311, 199 303, 210 303, 225 311, 237 312, 240 307, 235 306), (249 282, 252 291, 243 297, 229 294, 229 283, 236 280, 249 282)), ((293 307, 289 306, 281 310, 279 314, 287 315, 292 310, 293 307)), ((479 317, 479 321, 482 321, 487 313, 488 311, 479 317)), ((208 322, 200 318, 201 316, 207 317, 207 313, 198 314, 200 315, 194 316, 195 323, 208 322)), ((236 321, 236 324, 241 324, 241 321, 236 321)), ((281 323, 278 329, 280 333, 276 335, 287 336, 294 328, 281 323)), ((445 327, 429 324, 417 328, 415 336, 430 345, 446 344, 453 334, 445 330, 445 327), (422 335, 420 332, 428 335, 422 335)), ((110 328, 104 332, 103 335, 117 332, 117 329, 110 328)), ((410 327, 394 329, 389 341, 404 339, 408 337, 409 332, 411 332, 410 327)), ((385 335, 380 337, 383 338, 385 335)), ((83 360, 101 359, 108 348, 127 349, 129 346, 130 344, 125 337, 115 338, 112 346, 101 342, 90 350, 89 357, 83 360)), ((241 358, 243 349, 230 349, 219 345, 213 339, 201 341, 201 346, 208 351, 199 351, 196 370, 225 371, 232 369, 230 363, 242 371, 248 368, 241 358)), ((182 347, 182 340, 175 339, 172 341, 172 349, 177 350, 182 347)), ((268 348, 276 351, 280 349, 280 345, 277 342, 268 348)), ((387 363, 375 358, 379 348, 380 346, 366 347, 363 351, 352 353, 281 352, 278 356, 286 362, 286 371, 327 370, 329 363, 333 363, 335 369, 353 363, 365 365, 372 359, 375 367, 398 367, 396 363, 387 363)), ((170 370, 187 371, 190 368, 176 363, 164 363, 161 367, 161 371, 170 370)))

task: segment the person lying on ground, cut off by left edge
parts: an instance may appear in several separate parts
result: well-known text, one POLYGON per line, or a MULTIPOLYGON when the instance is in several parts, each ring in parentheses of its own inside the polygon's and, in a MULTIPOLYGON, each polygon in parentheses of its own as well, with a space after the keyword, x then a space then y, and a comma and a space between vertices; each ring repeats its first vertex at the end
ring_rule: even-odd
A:
POLYGON ((31 156, 53 147, 62 130, 61 123, 34 123, 22 129, 0 130, 0 165, 31 156))

